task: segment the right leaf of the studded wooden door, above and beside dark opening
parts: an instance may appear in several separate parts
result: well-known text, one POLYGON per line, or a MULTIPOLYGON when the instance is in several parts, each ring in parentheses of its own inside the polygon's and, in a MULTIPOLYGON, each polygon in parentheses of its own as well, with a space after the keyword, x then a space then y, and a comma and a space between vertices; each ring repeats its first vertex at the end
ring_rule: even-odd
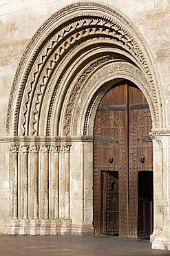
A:
POLYGON ((138 172, 151 171, 151 114, 147 100, 136 87, 128 86, 129 96, 129 236, 138 235, 138 172))

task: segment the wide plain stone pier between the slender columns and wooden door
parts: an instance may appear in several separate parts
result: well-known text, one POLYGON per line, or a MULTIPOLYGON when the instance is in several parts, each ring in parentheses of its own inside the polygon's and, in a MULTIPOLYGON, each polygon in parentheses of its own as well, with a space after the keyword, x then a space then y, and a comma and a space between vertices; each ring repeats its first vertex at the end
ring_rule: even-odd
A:
POLYGON ((70 153, 70 213, 72 234, 94 234, 93 222, 93 138, 72 138, 70 153))

